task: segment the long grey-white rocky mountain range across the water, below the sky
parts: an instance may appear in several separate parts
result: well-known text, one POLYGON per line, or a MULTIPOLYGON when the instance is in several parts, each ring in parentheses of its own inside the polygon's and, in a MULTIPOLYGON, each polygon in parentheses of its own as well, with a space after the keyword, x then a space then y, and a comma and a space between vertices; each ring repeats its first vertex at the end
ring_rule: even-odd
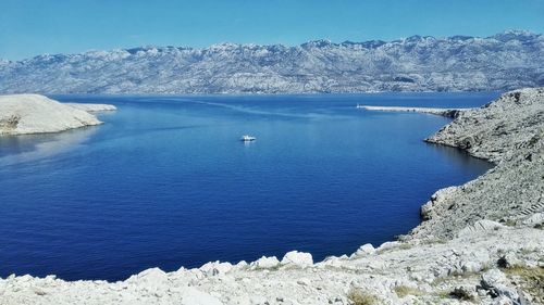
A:
POLYGON ((544 36, 146 47, 0 60, 0 92, 299 93, 544 86, 544 36))

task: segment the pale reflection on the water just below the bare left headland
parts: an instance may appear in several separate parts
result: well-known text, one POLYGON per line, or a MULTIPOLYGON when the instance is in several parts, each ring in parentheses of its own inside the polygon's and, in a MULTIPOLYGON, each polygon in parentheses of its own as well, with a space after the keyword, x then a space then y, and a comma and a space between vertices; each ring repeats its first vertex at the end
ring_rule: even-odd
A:
POLYGON ((59 134, 24 135, 0 138, 0 166, 51 157, 85 143, 98 126, 59 134))

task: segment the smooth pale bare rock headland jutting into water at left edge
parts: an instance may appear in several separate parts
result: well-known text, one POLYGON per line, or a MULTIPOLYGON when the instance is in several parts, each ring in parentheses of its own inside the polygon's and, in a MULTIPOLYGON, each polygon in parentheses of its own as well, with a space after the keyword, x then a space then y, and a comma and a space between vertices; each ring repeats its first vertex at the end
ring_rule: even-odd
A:
POLYGON ((89 112, 113 105, 63 104, 39 94, 0 96, 0 136, 59 132, 102 124, 89 112))

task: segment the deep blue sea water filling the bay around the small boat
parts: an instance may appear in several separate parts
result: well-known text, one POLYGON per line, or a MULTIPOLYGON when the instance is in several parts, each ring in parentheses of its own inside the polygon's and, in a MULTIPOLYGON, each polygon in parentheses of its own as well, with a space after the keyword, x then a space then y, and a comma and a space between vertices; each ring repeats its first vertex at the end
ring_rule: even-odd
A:
POLYGON ((434 191, 490 164, 422 141, 447 118, 355 105, 497 94, 53 97, 119 110, 98 127, 0 139, 0 277, 120 280, 379 245, 417 226, 434 191))

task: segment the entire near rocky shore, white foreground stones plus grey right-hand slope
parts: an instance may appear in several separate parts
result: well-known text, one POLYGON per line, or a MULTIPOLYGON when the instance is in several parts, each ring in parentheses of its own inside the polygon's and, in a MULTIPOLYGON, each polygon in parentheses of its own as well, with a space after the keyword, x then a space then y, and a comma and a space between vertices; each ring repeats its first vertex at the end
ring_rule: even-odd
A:
MULTIPOLYGON (((438 191, 399 241, 313 263, 153 268, 125 281, 0 280, 0 304, 544 304, 544 89, 466 111, 428 139, 496 166, 438 191)), ((363 224, 361 224, 362 226, 363 224)))

